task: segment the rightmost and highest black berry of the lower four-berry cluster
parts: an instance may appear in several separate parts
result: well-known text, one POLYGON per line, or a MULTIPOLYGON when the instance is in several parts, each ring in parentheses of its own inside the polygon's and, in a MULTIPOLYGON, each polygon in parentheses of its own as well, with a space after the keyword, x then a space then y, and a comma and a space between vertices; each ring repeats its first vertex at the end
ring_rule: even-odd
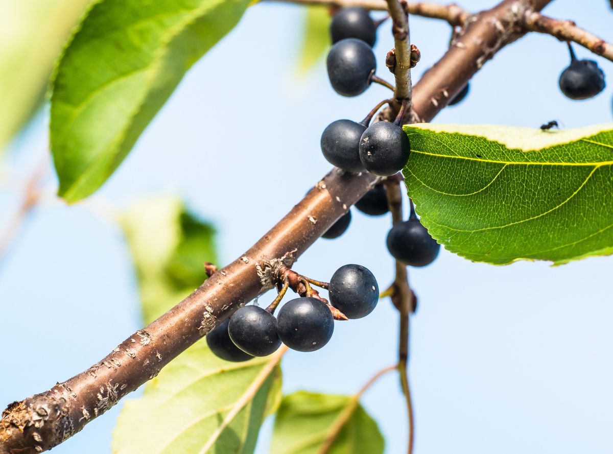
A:
POLYGON ((332 274, 329 295, 330 304, 348 319, 361 319, 375 309, 379 285, 368 268, 344 265, 332 274))

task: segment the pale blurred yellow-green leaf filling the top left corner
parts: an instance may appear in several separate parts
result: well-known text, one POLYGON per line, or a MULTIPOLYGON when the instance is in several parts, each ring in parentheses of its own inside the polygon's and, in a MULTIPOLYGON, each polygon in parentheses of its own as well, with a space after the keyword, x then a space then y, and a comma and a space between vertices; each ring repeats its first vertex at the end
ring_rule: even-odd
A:
POLYGON ((0 151, 40 107, 53 64, 89 0, 2 2, 0 151))

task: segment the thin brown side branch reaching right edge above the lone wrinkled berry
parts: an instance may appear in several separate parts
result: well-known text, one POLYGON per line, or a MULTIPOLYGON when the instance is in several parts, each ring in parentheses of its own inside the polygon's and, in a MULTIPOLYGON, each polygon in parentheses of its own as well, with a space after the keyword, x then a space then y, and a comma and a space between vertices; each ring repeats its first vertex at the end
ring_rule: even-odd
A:
POLYGON ((528 31, 549 34, 560 41, 576 42, 596 55, 613 61, 613 45, 578 27, 574 21, 552 19, 538 12, 527 12, 524 15, 524 27, 528 31))

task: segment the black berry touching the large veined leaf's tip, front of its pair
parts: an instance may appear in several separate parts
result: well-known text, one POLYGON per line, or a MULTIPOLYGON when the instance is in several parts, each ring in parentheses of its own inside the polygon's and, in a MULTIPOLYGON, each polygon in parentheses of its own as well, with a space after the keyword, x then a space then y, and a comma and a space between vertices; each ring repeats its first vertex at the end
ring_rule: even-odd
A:
POLYGON ((379 121, 368 126, 360 139, 360 159, 366 170, 390 176, 402 170, 409 159, 411 145, 402 127, 379 121))

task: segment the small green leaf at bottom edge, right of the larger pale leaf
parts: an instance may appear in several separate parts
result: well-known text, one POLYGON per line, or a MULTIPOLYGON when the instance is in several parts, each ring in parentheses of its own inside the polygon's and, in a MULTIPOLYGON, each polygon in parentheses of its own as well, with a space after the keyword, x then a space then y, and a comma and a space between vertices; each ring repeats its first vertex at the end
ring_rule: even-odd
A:
POLYGON ((355 396, 297 392, 285 396, 275 419, 271 454, 317 454, 333 437, 330 454, 381 454, 376 422, 355 396), (335 431, 335 425, 340 430, 335 431))

